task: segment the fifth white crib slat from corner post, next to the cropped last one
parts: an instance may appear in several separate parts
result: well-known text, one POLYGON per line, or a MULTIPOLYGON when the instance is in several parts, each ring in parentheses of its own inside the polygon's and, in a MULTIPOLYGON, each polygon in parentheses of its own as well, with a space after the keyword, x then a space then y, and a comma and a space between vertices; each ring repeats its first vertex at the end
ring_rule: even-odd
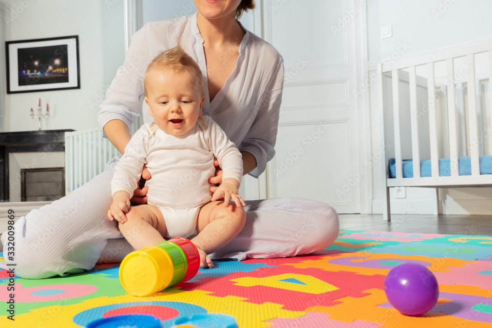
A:
POLYGON ((466 56, 468 64, 467 94, 468 94, 468 122, 470 132, 471 175, 480 175, 480 159, 478 149, 477 98, 475 94, 475 57, 466 56))

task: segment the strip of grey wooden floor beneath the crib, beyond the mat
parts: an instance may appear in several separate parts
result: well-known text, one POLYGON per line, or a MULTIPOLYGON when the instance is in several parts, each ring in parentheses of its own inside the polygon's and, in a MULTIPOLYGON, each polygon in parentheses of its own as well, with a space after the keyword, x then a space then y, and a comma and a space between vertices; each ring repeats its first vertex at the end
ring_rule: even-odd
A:
POLYGON ((387 231, 443 235, 492 236, 491 215, 339 214, 340 230, 387 231))

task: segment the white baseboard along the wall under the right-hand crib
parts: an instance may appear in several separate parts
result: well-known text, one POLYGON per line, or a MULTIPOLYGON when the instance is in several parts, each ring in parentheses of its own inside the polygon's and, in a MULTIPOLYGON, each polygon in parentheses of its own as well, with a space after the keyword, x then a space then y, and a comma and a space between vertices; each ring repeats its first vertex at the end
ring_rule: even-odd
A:
MULTIPOLYGON (((441 202, 442 214, 492 215, 492 199, 448 199, 441 202)), ((391 214, 433 214, 434 200, 392 199, 391 214)), ((372 201, 372 213, 383 213, 383 201, 372 201)))

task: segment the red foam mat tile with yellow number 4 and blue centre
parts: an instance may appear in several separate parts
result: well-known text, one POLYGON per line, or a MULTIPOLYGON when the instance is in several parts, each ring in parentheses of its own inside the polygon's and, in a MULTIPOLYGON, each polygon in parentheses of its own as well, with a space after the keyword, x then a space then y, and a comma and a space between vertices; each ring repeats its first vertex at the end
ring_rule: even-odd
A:
POLYGON ((382 275, 357 276, 353 272, 279 266, 261 268, 247 274, 233 273, 218 279, 204 278, 196 285, 188 286, 184 283, 181 289, 214 291, 214 286, 218 284, 223 288, 214 291, 215 296, 242 296, 247 298, 248 302, 257 304, 272 301, 283 304, 284 309, 302 311, 317 302, 335 304, 334 300, 337 298, 363 297, 367 295, 362 293, 367 286, 384 288, 384 278, 382 275), (282 293, 278 293, 279 290, 282 293))

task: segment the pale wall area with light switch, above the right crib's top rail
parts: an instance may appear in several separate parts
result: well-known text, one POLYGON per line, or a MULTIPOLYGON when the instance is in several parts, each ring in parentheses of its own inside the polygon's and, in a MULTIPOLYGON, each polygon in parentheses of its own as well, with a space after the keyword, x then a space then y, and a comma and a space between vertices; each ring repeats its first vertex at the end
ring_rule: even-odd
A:
POLYGON ((448 48, 492 36, 490 0, 367 0, 369 61, 381 61, 407 45, 401 56, 448 48), (393 36, 380 37, 391 25, 393 36))

